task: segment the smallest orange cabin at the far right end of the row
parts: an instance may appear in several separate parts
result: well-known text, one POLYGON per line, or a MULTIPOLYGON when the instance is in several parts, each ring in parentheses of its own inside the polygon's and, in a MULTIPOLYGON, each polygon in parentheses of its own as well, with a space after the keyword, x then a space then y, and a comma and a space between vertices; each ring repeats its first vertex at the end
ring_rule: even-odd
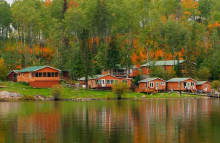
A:
POLYGON ((197 81, 196 88, 200 93, 210 93, 211 84, 208 81, 197 81))

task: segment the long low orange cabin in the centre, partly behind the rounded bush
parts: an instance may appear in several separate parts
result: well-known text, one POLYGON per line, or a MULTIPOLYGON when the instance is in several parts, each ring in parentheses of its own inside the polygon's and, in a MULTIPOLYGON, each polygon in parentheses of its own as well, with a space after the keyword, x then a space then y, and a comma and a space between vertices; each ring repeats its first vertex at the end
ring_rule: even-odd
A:
MULTIPOLYGON (((88 78, 89 88, 112 88, 112 85, 115 82, 126 82, 128 87, 131 87, 131 78, 120 78, 110 74, 95 75, 94 77, 88 78)), ((86 87, 86 81, 84 77, 79 79, 79 83, 81 87, 86 87)))

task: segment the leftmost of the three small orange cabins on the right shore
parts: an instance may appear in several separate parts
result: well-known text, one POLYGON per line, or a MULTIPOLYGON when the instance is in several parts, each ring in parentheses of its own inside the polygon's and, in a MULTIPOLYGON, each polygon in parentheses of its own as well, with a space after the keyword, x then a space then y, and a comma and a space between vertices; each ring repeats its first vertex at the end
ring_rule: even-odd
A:
POLYGON ((161 78, 146 78, 139 81, 139 92, 159 92, 166 90, 166 81, 161 78))

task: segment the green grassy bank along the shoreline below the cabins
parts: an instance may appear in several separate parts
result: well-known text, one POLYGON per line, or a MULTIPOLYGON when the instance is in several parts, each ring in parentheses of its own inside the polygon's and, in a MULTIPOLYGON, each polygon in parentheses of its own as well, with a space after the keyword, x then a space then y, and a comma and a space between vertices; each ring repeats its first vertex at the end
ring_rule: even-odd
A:
MULTIPOLYGON (((6 86, 6 88, 0 88, 0 91, 16 92, 21 95, 43 95, 46 97, 51 96, 51 89, 36 89, 32 88, 23 83, 13 83, 13 82, 3 82, 1 85, 6 86)), ((186 97, 200 97, 198 95, 182 94, 179 96, 178 93, 156 93, 153 95, 147 95, 144 93, 127 93, 123 98, 141 98, 143 95, 146 98, 186 98, 186 97)), ((116 95, 112 91, 96 91, 96 90, 84 90, 84 89, 72 89, 64 87, 62 90, 63 99, 76 99, 76 98, 96 98, 105 99, 106 97, 116 98, 116 95)))

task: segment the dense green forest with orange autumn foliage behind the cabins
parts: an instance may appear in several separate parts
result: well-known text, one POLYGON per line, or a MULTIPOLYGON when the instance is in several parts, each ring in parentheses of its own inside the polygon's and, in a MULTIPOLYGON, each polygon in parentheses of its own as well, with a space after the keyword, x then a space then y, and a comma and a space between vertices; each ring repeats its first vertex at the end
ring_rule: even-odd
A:
POLYGON ((50 65, 78 79, 174 59, 219 80, 219 0, 0 0, 0 76, 50 65))

